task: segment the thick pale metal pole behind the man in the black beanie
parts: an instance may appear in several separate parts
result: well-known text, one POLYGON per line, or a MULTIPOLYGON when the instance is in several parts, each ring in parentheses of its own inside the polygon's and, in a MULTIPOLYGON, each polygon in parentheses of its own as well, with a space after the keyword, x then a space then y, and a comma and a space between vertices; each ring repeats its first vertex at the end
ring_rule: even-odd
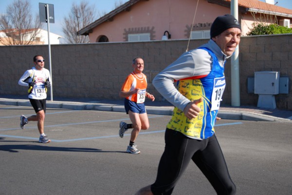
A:
MULTIPOLYGON (((238 0, 231 0, 231 15, 238 20, 238 0)), ((231 106, 240 106, 239 47, 231 56, 231 106)))

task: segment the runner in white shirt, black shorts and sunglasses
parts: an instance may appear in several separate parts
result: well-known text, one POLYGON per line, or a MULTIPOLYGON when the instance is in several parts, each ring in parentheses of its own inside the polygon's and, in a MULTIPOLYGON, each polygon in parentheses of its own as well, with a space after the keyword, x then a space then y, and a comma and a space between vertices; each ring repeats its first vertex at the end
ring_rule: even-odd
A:
POLYGON ((41 55, 34 57, 34 64, 30 70, 24 72, 18 81, 18 85, 28 87, 28 98, 31 105, 36 111, 36 115, 30 117, 20 116, 20 128, 24 129, 25 124, 29 121, 37 121, 37 128, 40 134, 38 142, 48 143, 51 140, 48 139, 44 133, 44 121, 46 113, 46 98, 47 87, 51 86, 50 71, 45 69, 45 60, 41 55))

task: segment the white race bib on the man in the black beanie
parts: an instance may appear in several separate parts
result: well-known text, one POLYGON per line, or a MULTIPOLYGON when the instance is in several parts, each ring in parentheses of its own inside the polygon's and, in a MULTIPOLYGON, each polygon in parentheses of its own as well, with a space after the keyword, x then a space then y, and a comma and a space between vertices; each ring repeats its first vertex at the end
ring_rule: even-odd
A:
POLYGON ((212 92, 212 106, 211 111, 218 110, 220 107, 220 102, 222 101, 223 91, 225 89, 225 77, 215 78, 214 87, 212 92))

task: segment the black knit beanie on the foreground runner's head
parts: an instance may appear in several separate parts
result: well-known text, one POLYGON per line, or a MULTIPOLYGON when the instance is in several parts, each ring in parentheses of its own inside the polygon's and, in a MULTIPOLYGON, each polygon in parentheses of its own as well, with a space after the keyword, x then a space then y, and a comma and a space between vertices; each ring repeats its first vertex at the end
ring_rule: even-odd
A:
POLYGON ((224 16, 217 17, 211 26, 211 38, 220 35, 223 31, 229 28, 239 28, 241 30, 241 26, 234 16, 226 14, 224 16))

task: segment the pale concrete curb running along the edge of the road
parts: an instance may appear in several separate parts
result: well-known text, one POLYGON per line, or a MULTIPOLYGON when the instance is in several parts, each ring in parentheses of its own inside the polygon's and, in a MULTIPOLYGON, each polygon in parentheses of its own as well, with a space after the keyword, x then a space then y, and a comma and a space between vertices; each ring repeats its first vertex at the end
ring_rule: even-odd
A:
MULTIPOLYGON (((5 99, 5 98, 0 98, 0 104, 11 105, 11 106, 31 106, 29 100, 5 99)), ((100 103, 47 101, 47 107, 74 109, 74 110, 98 110, 98 111, 125 112, 125 108, 122 105, 100 104, 100 103)), ((146 106, 146 110, 148 114, 172 115, 173 106, 146 106)), ((223 109, 219 110, 218 117, 222 119, 231 119, 231 120, 292 122, 292 120, 289 120, 289 119, 267 116, 263 114, 238 112, 238 111, 226 111, 223 109)))

